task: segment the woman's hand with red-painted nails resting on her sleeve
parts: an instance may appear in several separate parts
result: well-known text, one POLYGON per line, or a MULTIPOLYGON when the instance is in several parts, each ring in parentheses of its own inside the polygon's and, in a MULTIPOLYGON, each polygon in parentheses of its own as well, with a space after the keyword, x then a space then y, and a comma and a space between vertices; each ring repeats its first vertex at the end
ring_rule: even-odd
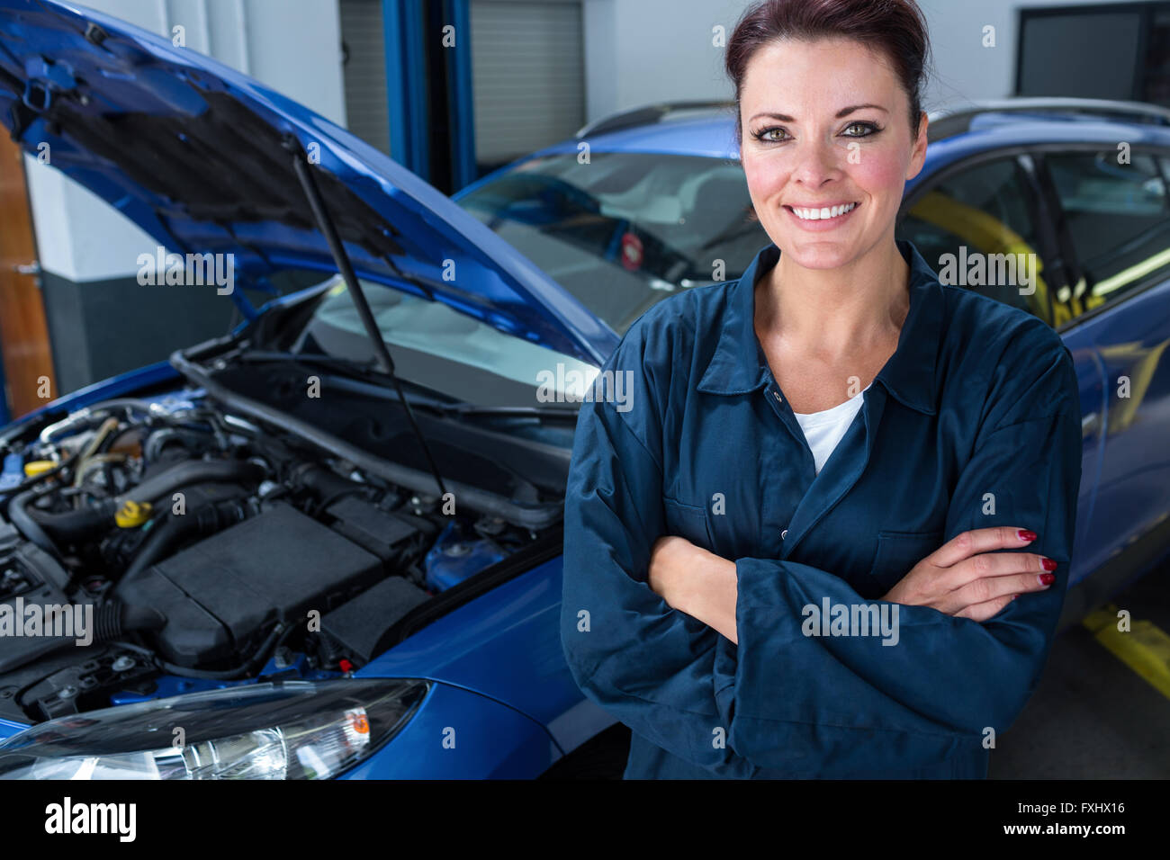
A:
POLYGON ((994 551, 1035 538, 1033 531, 1009 527, 964 531, 914 565, 881 599, 986 621, 1020 594, 1046 591, 1057 580, 1051 558, 994 551))

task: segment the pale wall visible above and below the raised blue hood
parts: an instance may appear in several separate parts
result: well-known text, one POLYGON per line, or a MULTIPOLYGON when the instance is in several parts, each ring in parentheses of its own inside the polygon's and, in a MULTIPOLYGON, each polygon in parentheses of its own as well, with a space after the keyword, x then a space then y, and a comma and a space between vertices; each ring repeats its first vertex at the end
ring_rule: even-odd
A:
MULTIPOLYGON (((83 0, 91 8, 214 56, 345 124, 337 0, 83 0)), ((132 275, 154 246, 133 223, 56 170, 26 158, 41 267, 71 281, 132 275)))

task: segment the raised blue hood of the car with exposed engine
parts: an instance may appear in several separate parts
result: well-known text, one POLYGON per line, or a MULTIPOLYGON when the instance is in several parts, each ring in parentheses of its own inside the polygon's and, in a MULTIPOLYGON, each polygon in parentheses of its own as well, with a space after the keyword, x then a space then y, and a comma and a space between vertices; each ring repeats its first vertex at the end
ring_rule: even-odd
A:
MULTIPOLYGON (((618 336, 457 204, 328 119, 211 57, 56 0, 0 0, 0 122, 178 254, 241 285, 336 271, 292 168, 315 161, 358 276, 600 364, 618 336)), ((153 253, 144 248, 144 253, 153 253)), ((255 308, 232 295, 249 318, 255 308)))

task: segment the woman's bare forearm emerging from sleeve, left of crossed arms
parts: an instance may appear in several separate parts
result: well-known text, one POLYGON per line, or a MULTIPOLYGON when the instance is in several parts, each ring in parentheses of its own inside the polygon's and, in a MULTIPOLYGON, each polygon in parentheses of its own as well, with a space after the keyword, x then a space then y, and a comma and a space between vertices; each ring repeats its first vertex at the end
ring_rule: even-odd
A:
POLYGON ((735 562, 684 537, 660 537, 651 550, 647 584, 670 608, 698 619, 738 644, 735 608, 739 578, 735 562))

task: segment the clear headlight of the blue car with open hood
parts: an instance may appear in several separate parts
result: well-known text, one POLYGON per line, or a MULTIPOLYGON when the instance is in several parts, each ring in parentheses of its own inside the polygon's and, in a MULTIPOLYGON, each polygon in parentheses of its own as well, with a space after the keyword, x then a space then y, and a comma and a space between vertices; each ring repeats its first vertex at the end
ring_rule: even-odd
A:
POLYGON ((73 714, 0 743, 0 778, 326 779, 398 734, 429 687, 278 681, 73 714))

